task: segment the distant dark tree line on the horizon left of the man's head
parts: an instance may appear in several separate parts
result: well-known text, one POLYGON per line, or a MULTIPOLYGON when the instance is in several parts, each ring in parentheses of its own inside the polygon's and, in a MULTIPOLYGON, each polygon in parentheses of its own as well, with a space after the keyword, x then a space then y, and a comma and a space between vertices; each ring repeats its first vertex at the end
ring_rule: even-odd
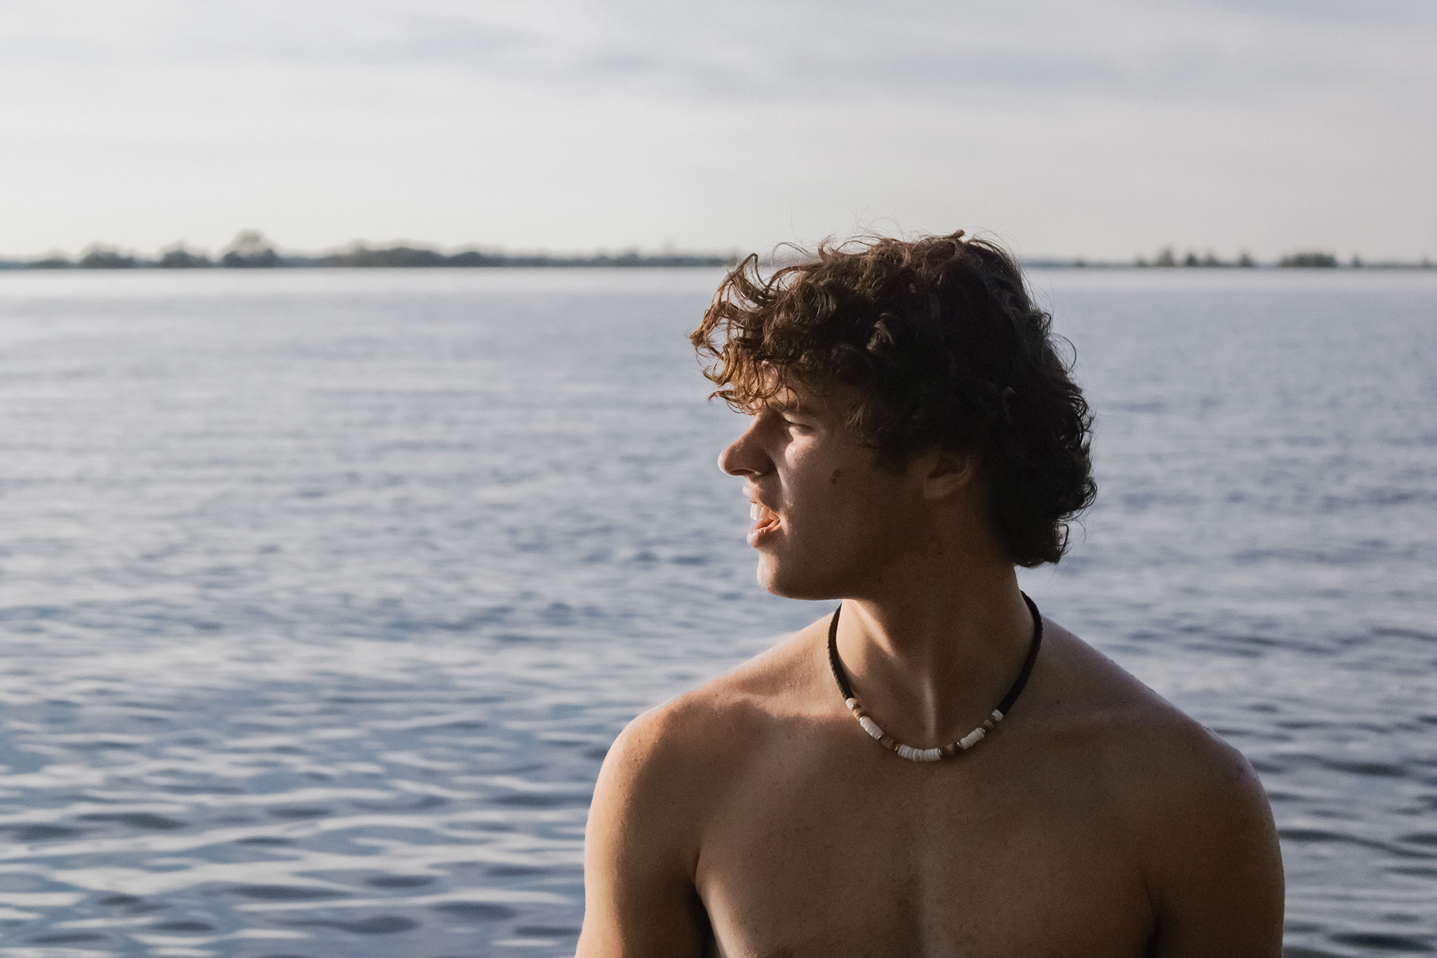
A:
POLYGON ((286 256, 274 248, 259 230, 244 230, 221 251, 218 259, 200 250, 177 244, 161 251, 157 259, 137 257, 116 247, 96 243, 88 247, 78 260, 65 256, 49 256, 39 260, 10 263, 10 267, 32 270, 204 270, 204 269, 305 269, 305 267, 349 267, 349 269, 424 269, 424 267, 494 267, 494 266, 540 266, 540 267, 665 267, 665 266, 731 266, 736 256, 703 253, 596 253, 593 256, 555 256, 549 253, 481 253, 466 250, 445 254, 422 247, 395 246, 374 250, 362 243, 341 251, 320 256, 286 256))

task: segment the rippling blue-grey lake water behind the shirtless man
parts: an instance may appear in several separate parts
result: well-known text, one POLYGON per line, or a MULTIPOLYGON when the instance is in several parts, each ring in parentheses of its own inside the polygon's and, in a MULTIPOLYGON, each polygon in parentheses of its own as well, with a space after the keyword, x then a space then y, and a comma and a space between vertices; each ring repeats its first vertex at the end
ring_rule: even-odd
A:
MULTIPOLYGON (((0 274, 0 952, 568 955, 753 585, 720 274, 0 274)), ((1437 948, 1437 274, 1036 271, 1098 412, 1045 613, 1242 748, 1292 957, 1437 948)))

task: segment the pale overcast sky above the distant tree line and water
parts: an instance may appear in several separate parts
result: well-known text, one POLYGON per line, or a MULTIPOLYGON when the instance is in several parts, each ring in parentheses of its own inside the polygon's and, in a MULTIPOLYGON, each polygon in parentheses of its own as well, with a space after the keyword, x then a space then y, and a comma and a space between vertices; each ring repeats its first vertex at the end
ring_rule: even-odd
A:
POLYGON ((1431 0, 0 0, 0 254, 1437 256, 1431 0))

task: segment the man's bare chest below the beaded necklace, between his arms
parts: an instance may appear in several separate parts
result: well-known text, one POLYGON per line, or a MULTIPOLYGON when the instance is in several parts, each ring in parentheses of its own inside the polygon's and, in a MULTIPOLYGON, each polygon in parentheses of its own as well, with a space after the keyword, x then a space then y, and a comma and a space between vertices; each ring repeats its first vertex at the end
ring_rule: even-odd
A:
POLYGON ((790 763, 729 796, 696 876, 716 954, 1142 954, 1145 888, 1089 790, 877 758, 790 763))

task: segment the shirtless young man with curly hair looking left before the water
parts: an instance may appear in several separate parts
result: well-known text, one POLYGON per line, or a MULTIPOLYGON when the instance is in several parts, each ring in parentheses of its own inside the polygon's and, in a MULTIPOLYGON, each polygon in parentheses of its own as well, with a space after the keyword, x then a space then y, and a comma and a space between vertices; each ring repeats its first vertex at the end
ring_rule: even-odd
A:
POLYGON ((762 507, 759 582, 841 600, 839 668, 825 616, 619 735, 581 958, 1276 958, 1252 768, 1019 592, 1094 485, 1012 259, 956 234, 750 261, 694 342, 752 415, 720 467, 762 507))

